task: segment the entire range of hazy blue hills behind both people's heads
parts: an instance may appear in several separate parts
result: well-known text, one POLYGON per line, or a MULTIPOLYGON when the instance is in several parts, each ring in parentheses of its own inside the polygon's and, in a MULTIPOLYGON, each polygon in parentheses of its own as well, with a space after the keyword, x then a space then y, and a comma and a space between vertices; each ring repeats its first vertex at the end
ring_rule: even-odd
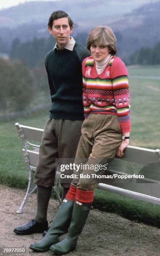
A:
POLYGON ((98 5, 95 0, 61 0, 27 2, 1 10, 0 39, 3 44, 8 44, 9 49, 16 37, 22 42, 48 37, 47 20, 53 10, 69 13, 75 21, 73 36, 86 33, 99 24, 111 26, 117 36, 119 55, 124 59, 140 46, 153 46, 160 41, 160 0, 126 0, 123 3, 99 0, 98 5))

